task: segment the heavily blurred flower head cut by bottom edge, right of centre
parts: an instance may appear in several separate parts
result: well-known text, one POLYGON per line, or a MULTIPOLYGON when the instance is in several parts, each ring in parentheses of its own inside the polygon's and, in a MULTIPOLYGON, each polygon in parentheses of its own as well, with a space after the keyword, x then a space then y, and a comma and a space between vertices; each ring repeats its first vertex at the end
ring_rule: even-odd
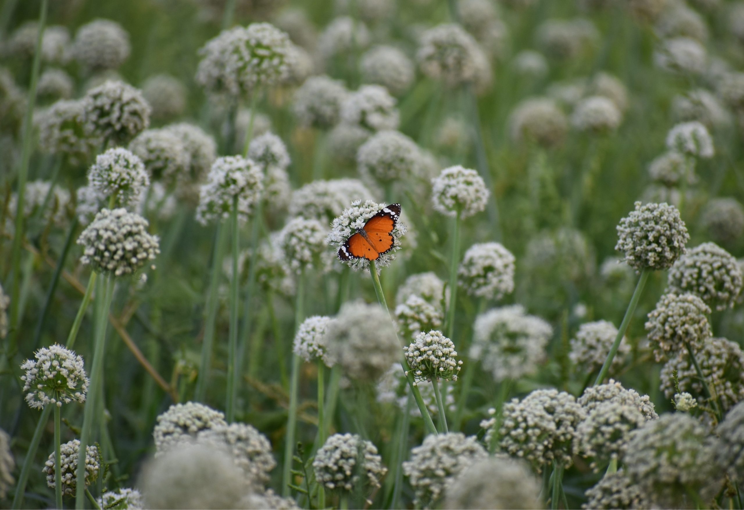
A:
POLYGON ((446 488, 445 509, 539 509, 540 482, 526 462, 504 455, 478 459, 446 488))

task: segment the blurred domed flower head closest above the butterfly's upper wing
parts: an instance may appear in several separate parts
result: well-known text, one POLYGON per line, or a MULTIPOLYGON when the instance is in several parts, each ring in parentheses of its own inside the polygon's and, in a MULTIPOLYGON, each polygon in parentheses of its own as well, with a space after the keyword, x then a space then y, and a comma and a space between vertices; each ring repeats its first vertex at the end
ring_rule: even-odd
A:
POLYGON ((356 152, 356 164, 362 180, 380 184, 405 182, 423 173, 419 146, 398 131, 380 131, 368 138, 356 152))

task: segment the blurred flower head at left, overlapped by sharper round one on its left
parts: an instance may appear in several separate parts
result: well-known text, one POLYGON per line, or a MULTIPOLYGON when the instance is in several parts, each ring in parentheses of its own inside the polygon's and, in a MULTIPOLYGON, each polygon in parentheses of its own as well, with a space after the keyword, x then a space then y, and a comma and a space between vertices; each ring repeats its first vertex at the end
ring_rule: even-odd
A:
POLYGON ((182 138, 170 129, 146 129, 129 142, 129 150, 142 160, 153 180, 168 187, 182 181, 191 164, 182 138))

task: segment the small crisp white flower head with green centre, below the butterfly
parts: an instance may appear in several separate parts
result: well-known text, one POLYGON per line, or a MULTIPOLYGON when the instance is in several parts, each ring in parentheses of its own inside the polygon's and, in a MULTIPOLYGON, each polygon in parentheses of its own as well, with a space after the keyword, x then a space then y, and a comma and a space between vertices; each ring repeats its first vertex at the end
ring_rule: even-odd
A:
POLYGON ((458 380, 463 362, 458 361, 455 344, 442 332, 434 330, 428 333, 420 332, 413 342, 403 347, 403 352, 415 380, 458 380))

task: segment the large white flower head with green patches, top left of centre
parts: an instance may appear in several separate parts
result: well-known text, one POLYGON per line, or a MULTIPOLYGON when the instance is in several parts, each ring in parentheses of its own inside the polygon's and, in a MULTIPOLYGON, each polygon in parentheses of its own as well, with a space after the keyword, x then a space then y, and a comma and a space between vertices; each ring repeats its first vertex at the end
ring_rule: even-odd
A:
POLYGON ((196 82, 213 94, 240 97, 275 85, 289 72, 289 36, 270 23, 223 30, 199 50, 196 82))

